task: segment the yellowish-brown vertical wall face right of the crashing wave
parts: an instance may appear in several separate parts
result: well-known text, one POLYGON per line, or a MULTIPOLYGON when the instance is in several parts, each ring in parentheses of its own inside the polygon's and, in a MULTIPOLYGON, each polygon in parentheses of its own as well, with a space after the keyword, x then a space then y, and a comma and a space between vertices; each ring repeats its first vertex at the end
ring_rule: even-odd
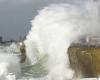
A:
POLYGON ((74 44, 68 50, 70 65, 77 73, 76 76, 100 76, 100 46, 74 44))

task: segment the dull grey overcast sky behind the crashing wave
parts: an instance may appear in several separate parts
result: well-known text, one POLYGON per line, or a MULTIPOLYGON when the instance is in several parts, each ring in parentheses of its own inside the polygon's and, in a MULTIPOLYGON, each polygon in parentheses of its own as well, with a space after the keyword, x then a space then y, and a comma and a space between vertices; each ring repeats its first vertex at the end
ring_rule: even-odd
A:
POLYGON ((0 35, 4 40, 26 36, 37 10, 51 3, 81 4, 85 0, 0 0, 0 35))

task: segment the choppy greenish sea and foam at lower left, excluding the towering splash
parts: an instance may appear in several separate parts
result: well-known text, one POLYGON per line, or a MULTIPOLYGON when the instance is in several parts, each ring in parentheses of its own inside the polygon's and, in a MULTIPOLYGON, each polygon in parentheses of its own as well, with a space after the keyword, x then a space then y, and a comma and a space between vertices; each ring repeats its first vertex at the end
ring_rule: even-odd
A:
POLYGON ((0 80, 46 80, 46 75, 48 73, 47 69, 45 68, 47 56, 41 58, 36 64, 30 65, 27 61, 20 64, 18 61, 20 60, 19 55, 20 51, 17 43, 0 45, 0 56, 2 56, 0 57, 0 80), (6 63, 10 65, 11 68, 8 68, 6 63), (12 67, 13 65, 15 66, 12 67), (9 70, 11 69, 11 72, 8 72, 6 68, 9 70), (14 72, 20 70, 18 73, 16 73, 18 75, 14 74, 12 69, 14 69, 14 72), (5 71, 5 75, 2 75, 3 71, 5 71))

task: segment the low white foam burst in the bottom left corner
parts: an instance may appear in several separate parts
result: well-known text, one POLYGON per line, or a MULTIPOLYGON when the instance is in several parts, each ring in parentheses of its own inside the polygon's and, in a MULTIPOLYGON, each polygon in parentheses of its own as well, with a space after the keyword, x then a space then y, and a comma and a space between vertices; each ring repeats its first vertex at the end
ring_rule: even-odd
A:
POLYGON ((15 77, 19 77, 21 74, 20 69, 19 58, 16 55, 0 53, 0 80, 11 80, 7 78, 10 73, 15 77))

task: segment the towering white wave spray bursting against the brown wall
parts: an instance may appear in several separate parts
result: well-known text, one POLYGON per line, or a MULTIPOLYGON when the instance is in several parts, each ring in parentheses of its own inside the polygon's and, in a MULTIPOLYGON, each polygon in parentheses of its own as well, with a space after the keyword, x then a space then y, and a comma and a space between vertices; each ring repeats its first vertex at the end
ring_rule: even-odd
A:
POLYGON ((99 35, 97 5, 89 2, 79 8, 70 4, 53 4, 39 11, 32 20, 32 28, 25 41, 31 63, 39 56, 48 56, 48 79, 72 79, 67 49, 83 36, 99 35))

